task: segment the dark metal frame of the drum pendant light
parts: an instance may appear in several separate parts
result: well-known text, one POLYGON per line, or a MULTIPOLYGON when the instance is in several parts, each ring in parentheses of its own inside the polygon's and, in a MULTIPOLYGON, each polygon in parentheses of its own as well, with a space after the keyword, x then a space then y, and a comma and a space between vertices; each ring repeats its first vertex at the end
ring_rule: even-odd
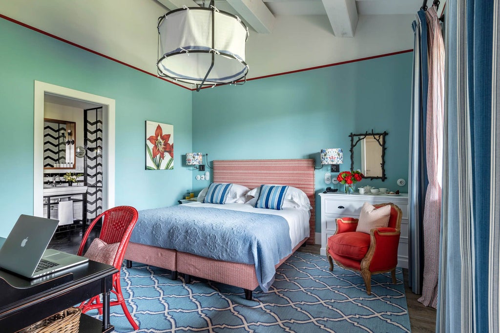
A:
POLYGON ((177 81, 177 82, 182 82, 182 83, 187 83, 187 84, 195 84, 196 85, 196 91, 199 91, 201 89, 202 86, 217 86, 217 85, 225 85, 225 84, 244 84, 246 82, 246 74, 248 73, 248 64, 234 56, 233 54, 231 53, 228 53, 228 52, 224 52, 224 51, 221 51, 221 50, 215 50, 215 12, 218 12, 218 13, 221 13, 221 14, 224 14, 224 15, 228 15, 230 17, 233 17, 234 19, 236 19, 242 26, 243 28, 246 30, 246 37, 245 37, 245 42, 246 40, 248 39, 248 28, 246 27, 246 25, 241 21, 241 19, 239 19, 239 17, 231 14, 231 13, 228 13, 226 11, 223 11, 223 10, 218 10, 217 8, 215 8, 214 6, 214 1, 211 0, 210 1, 210 4, 208 7, 183 7, 183 8, 178 8, 178 9, 174 9, 174 10, 171 10, 169 12, 167 12, 166 14, 158 17, 158 24, 157 24, 157 29, 158 29, 158 61, 156 62, 156 67, 157 67, 157 72, 158 72, 158 76, 161 76, 161 77, 166 77, 166 78, 170 78, 170 79, 173 79, 174 81, 177 81), (161 25, 161 22, 163 21, 163 19, 167 19, 167 16, 169 14, 172 14, 172 13, 175 13, 175 12, 178 12, 178 11, 181 11, 181 10, 209 10, 212 12, 211 14, 211 49, 210 50, 206 50, 206 49, 190 49, 188 51, 186 50, 183 50, 181 49, 180 51, 176 51, 176 52, 170 52, 168 54, 163 54, 161 57, 160 57, 160 25, 161 25), (161 69, 160 69, 160 62, 170 56, 174 56, 174 55, 178 55, 178 54, 182 54, 182 53, 211 53, 211 64, 206 72, 206 74, 204 75, 203 79, 201 81, 199 81, 199 83, 197 82, 192 82, 192 81, 195 81, 196 79, 192 79, 191 82, 190 81, 187 81, 185 80, 184 78, 182 77, 176 77, 176 76, 172 76, 172 75, 168 75, 166 73, 164 73, 161 69), (213 65, 215 63, 215 53, 217 53, 217 55, 221 55, 221 56, 225 56, 227 58, 232 58, 236 61, 239 61, 243 66, 244 66, 244 73, 243 75, 231 80, 230 82, 218 82, 218 81, 210 81, 209 79, 207 80, 208 78, 208 75, 209 73, 211 72, 212 68, 213 68, 213 65))

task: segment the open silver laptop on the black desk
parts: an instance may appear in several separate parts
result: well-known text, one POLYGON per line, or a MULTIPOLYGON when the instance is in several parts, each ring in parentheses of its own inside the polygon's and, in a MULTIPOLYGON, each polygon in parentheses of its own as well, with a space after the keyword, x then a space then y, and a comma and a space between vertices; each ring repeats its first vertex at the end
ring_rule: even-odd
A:
POLYGON ((56 219, 20 215, 0 248, 0 267, 35 278, 88 261, 83 256, 46 249, 56 219))

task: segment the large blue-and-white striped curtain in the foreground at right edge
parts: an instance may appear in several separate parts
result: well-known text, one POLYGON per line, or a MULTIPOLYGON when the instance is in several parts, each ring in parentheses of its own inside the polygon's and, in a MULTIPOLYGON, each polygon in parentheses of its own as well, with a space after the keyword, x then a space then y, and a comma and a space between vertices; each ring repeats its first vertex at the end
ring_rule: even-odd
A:
POLYGON ((447 2, 437 332, 499 331, 498 1, 447 2))

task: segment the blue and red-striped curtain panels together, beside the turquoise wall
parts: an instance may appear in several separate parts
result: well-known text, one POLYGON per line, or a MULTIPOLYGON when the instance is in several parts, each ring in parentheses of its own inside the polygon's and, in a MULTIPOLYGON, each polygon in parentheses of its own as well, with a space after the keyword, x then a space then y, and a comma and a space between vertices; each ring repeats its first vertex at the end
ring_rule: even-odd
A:
POLYGON ((413 107, 409 167, 409 274, 418 299, 437 305, 442 182, 444 43, 435 5, 413 22, 413 107))

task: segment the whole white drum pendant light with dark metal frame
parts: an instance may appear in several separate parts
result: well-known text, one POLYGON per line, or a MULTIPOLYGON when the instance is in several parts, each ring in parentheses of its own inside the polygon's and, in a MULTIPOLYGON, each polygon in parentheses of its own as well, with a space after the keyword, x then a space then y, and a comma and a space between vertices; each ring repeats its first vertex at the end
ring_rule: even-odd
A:
MULTIPOLYGON (((209 7, 184 7, 158 18, 158 75, 183 83, 236 83, 246 79, 246 25, 230 13, 209 7)), ((242 84, 242 83, 241 83, 242 84)))

